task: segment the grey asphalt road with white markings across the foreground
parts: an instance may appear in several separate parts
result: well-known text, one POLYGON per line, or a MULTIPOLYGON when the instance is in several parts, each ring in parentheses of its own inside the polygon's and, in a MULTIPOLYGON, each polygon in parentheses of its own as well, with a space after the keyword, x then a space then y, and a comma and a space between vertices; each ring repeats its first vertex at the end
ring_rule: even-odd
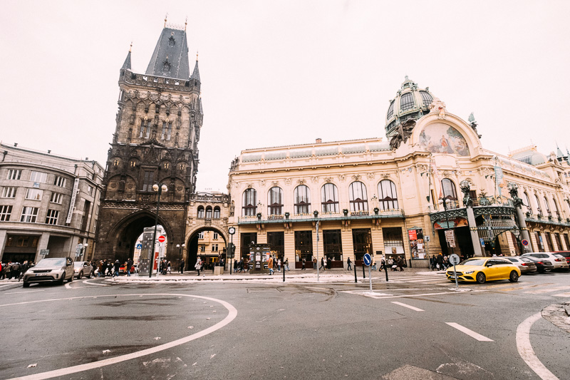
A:
POLYGON ((380 278, 0 284, 0 379, 569 379, 570 273, 380 278))

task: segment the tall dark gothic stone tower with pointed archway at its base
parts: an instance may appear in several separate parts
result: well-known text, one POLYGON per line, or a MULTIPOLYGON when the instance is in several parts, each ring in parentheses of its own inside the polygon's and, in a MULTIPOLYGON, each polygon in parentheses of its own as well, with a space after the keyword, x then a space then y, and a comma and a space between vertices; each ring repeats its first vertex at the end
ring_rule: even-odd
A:
POLYGON ((119 109, 108 151, 96 257, 126 260, 144 227, 155 224, 155 183, 164 183, 158 224, 175 260, 195 191, 202 101, 198 61, 190 76, 185 29, 162 29, 147 71, 134 73, 129 51, 119 76, 119 109))

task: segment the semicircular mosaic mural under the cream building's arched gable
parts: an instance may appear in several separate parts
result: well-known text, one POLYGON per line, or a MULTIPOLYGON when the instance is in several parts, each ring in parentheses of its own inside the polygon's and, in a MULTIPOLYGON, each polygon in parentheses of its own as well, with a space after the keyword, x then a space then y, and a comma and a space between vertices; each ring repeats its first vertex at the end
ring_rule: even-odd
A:
POLYGON ((457 129, 443 123, 427 125, 420 133, 420 145, 432 153, 469 155, 469 147, 463 135, 457 129))

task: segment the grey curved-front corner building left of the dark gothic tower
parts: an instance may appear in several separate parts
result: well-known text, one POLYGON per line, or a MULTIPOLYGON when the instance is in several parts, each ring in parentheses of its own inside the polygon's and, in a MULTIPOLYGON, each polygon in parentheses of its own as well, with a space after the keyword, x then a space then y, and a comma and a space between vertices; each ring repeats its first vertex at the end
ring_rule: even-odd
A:
POLYGON ((0 144, 0 260, 93 257, 103 168, 0 144))

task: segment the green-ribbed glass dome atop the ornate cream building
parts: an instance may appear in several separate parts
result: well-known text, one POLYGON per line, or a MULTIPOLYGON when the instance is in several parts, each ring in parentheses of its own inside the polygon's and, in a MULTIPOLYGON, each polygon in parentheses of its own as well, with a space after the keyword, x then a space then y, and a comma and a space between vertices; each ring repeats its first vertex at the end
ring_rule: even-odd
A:
POLYGON ((418 88, 418 84, 405 76, 405 81, 398 91, 398 95, 390 101, 386 114, 386 136, 392 137, 395 127, 408 119, 418 120, 430 113, 430 104, 433 96, 429 88, 418 88))

